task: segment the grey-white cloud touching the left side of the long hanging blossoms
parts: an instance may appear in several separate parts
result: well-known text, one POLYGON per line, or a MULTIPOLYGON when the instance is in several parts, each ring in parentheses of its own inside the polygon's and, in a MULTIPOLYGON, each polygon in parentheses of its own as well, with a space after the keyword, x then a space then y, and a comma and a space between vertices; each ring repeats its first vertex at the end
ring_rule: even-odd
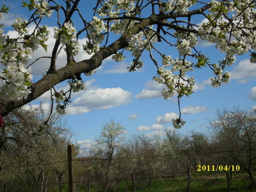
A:
POLYGON ((146 89, 135 95, 137 99, 153 99, 162 98, 161 91, 164 87, 163 84, 157 83, 153 80, 147 81, 145 84, 146 89))

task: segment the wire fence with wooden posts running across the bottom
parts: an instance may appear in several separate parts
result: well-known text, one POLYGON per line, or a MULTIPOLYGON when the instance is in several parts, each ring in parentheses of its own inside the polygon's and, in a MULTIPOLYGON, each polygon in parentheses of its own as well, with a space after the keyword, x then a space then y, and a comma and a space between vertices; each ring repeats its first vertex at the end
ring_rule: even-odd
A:
POLYGON ((247 159, 255 156, 256 149, 243 152, 217 151, 112 159, 86 157, 3 166, 0 171, 0 191, 253 191, 256 162, 252 161, 249 165, 247 159), (240 163, 231 164, 235 158, 240 163))

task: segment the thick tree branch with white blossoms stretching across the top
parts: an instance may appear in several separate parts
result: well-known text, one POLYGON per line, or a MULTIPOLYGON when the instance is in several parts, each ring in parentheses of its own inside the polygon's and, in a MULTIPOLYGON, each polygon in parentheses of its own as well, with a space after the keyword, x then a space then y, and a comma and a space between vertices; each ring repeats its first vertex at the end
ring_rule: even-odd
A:
MULTIPOLYGON (((153 77, 165 85, 162 90, 164 99, 177 95, 178 104, 181 97, 190 96, 195 84, 194 77, 188 77, 189 71, 208 67, 212 70, 211 85, 221 86, 229 82, 230 74, 226 67, 234 63, 236 55, 250 52, 251 63, 256 63, 256 1, 255 0, 98 0, 95 3, 91 20, 85 18, 86 12, 79 7, 79 0, 27 0, 23 1, 25 11, 31 12, 29 20, 18 17, 12 25, 18 32, 17 37, 4 34, 4 25, 0 30, 0 54, 4 71, 1 73, 0 87, 1 114, 5 116, 12 110, 23 106, 46 91, 51 90, 52 105, 56 102, 57 112, 64 114, 71 102, 72 92, 85 90, 81 76, 92 75, 102 61, 109 56, 118 61, 124 60, 124 51, 131 52, 133 62, 127 69, 130 72, 143 67, 142 54, 149 54, 155 65, 157 75, 153 77), (43 20, 54 19, 56 27, 54 48, 47 49, 49 30, 42 26, 43 20), (74 26, 73 20, 79 19, 83 26, 74 26), (194 17, 206 19, 202 25, 196 25, 194 17), (35 29, 28 30, 35 24, 35 29), (110 33, 116 34, 116 41, 110 42, 110 33), (79 39, 87 37, 83 50, 79 39), (219 63, 210 63, 207 55, 197 48, 197 39, 215 44, 216 49, 225 53, 219 63), (176 47, 178 58, 172 53, 160 52, 157 44, 176 47), (51 52, 49 70, 42 79, 32 83, 29 64, 34 50, 42 46, 51 52), (67 65, 56 68, 56 58, 64 48, 67 65), (76 61, 78 52, 92 54, 90 59, 76 61), (161 60, 154 59, 161 56, 161 60), (190 60, 196 59, 192 63, 190 60), (57 91, 54 86, 67 80, 69 90, 57 91)), ((7 14, 9 8, 1 8, 0 18, 7 14)), ((216 50, 216 51, 218 51, 216 50)), ((40 58, 38 58, 40 59, 40 58)), ((35 61, 36 62, 36 61, 35 61)), ((180 128, 185 124, 181 117, 173 119, 173 125, 180 128)))

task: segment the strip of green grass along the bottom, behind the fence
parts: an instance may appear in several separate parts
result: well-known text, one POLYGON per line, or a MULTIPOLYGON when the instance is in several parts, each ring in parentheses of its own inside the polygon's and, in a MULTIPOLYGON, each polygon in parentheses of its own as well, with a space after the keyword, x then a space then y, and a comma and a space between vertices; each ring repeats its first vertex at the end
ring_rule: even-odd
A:
MULTIPOLYGON (((255 173, 254 173, 255 174, 255 173)), ((150 184, 149 180, 141 179, 135 180, 136 192, 169 192, 187 191, 188 177, 175 177, 173 178, 156 178, 152 179, 150 184)), ((112 182, 108 186, 108 192, 133 192, 132 181, 112 182)), ((233 172, 230 183, 232 192, 252 191, 250 182, 246 180, 245 174, 233 172)), ((63 189, 63 192, 68 191, 68 188, 63 189)), ((80 186, 79 192, 87 192, 88 185, 80 186)), ((191 175, 190 192, 223 192, 228 191, 226 173, 219 174, 202 174, 193 176, 191 175)), ((105 192, 105 189, 99 184, 91 183, 90 192, 105 192)))

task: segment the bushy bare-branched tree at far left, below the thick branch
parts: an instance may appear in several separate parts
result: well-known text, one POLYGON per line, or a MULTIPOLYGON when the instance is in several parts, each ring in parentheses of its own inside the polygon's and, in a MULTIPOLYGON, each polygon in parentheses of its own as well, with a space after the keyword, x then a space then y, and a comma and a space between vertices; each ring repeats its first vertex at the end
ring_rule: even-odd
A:
POLYGON ((43 105, 26 106, 12 111, 4 120, 0 181, 1 185, 14 186, 8 191, 42 192, 47 179, 54 183, 56 173, 58 176, 67 173, 63 167, 67 166, 67 144, 72 132, 59 114, 48 116, 43 105))

